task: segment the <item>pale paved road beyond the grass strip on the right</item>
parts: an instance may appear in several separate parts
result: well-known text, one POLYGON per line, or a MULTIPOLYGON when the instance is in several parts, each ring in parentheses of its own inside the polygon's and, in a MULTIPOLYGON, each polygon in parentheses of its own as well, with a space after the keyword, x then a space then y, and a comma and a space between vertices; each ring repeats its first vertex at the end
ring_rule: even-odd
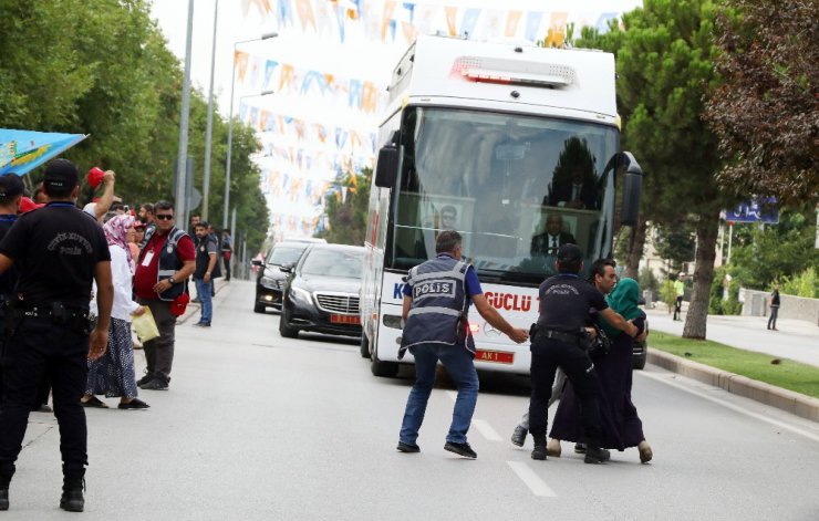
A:
MULTIPOLYGON (((683 308, 685 311, 685 308, 683 308)), ((683 321, 672 321, 665 305, 645 310, 649 329, 682 336, 683 321)), ((777 320, 779 331, 768 331, 767 316, 708 315, 705 336, 746 351, 771 355, 774 358, 790 358, 819 367, 819 326, 800 320, 777 320)))

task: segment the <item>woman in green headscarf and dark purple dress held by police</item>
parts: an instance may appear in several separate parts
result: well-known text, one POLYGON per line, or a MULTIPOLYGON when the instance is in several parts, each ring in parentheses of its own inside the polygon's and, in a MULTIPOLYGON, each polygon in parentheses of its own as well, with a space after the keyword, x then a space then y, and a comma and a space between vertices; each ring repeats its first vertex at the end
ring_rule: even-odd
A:
MULTIPOLYGON (((639 301, 640 285, 633 279, 622 279, 607 296, 609 306, 625 320, 632 321, 642 334, 645 330, 645 313, 637 308, 639 301)), ((622 334, 601 316, 598 316, 598 323, 611 340, 609 353, 593 358, 600 383, 598 397, 603 427, 600 446, 620 451, 637 447, 640 461, 645 463, 652 459, 653 452, 645 441, 643 423, 631 400, 634 338, 622 334)), ((550 455, 560 455, 560 440, 578 442, 577 451, 584 448, 580 417, 580 400, 571 384, 567 384, 550 433, 550 455)))

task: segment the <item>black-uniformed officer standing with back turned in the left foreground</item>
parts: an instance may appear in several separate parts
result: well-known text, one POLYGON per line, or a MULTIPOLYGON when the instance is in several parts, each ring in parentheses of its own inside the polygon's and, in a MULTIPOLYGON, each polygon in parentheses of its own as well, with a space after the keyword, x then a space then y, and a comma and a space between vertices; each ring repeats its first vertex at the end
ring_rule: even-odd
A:
POLYGON ((0 242, 0 273, 15 264, 19 279, 7 311, 0 411, 0 509, 25 435, 31 403, 43 373, 51 377, 60 425, 63 493, 60 508, 81 512, 87 465, 87 429, 80 398, 87 360, 105 353, 114 286, 102 228, 75 207, 80 173, 65 159, 45 169, 44 208, 21 216, 0 242), (100 314, 90 331, 89 298, 96 280, 100 314), (89 335, 91 335, 89 337, 89 335))

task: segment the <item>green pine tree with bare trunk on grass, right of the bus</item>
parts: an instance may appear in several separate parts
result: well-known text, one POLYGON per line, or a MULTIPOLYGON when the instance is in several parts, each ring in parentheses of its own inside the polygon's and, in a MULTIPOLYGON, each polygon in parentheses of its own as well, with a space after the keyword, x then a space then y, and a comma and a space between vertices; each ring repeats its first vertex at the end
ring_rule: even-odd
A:
POLYGON ((643 218, 692 220, 698 247, 683 335, 704 338, 719 212, 733 204, 718 190, 716 137, 702 118, 703 96, 717 84, 712 3, 646 0, 623 25, 604 35, 587 30, 581 42, 616 53, 623 143, 647 173, 643 218))

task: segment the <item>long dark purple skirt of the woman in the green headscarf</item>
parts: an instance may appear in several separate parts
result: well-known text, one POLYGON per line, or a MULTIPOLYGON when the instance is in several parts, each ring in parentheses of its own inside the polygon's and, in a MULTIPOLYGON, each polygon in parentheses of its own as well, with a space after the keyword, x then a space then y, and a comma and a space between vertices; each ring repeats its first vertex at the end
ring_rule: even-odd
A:
MULTIPOLYGON (((608 355, 594 360, 603 426, 600 445, 607 449, 636 447, 645 439, 643 423, 631 402, 633 342, 629 335, 621 334, 612 341, 608 355)), ((580 399, 571 383, 567 383, 549 436, 566 441, 583 441, 580 418, 580 399)))

